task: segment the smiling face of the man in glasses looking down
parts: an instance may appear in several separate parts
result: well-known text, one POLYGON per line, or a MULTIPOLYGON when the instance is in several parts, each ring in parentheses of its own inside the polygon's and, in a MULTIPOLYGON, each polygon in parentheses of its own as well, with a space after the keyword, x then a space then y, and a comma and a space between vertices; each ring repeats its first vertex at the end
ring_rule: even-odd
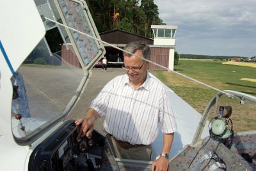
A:
MULTIPOLYGON (((140 50, 137 50, 134 54, 143 57, 140 50)), ((148 63, 136 56, 124 56, 124 65, 131 84, 140 86, 146 80, 148 63)))

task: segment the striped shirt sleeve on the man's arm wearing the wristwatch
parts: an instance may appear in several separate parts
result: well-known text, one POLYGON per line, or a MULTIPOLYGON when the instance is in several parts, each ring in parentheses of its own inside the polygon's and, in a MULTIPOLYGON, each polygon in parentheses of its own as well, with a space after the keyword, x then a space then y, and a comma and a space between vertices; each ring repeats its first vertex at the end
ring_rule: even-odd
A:
POLYGON ((162 124, 163 133, 173 133, 177 131, 177 124, 170 99, 170 94, 163 87, 163 98, 161 98, 159 103, 159 121, 162 124))

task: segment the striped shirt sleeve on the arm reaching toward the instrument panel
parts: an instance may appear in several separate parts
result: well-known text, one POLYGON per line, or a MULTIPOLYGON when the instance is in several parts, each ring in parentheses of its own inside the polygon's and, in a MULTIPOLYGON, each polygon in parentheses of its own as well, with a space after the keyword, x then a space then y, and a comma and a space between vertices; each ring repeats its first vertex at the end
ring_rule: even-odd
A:
POLYGON ((106 110, 108 108, 109 98, 111 95, 111 90, 113 90, 113 82, 111 80, 106 84, 97 97, 92 101, 90 108, 96 110, 100 117, 106 115, 106 110))

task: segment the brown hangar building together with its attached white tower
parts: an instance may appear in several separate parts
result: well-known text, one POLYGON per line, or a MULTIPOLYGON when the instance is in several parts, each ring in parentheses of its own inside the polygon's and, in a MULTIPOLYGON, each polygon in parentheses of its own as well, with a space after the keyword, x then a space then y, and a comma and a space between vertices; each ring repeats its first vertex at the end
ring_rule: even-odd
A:
MULTIPOLYGON (((125 45, 131 41, 145 41, 148 43, 151 50, 150 61, 160 64, 169 70, 173 70, 175 34, 177 31, 177 26, 152 25, 151 28, 154 33, 154 39, 132 34, 120 29, 113 29, 111 31, 100 33, 100 38, 102 41, 111 43, 119 48, 124 48, 125 45)), ((72 53, 73 50, 70 48, 67 49, 66 47, 67 45, 62 45, 61 57, 65 59, 65 61, 68 61, 68 63, 72 61, 74 66, 77 66, 79 62, 74 60, 77 58, 72 53)), ((104 44, 104 47, 106 49, 105 56, 107 57, 109 64, 122 65, 124 63, 124 57, 121 50, 106 44, 104 44)), ((149 69, 164 70, 163 68, 151 63, 149 69)))

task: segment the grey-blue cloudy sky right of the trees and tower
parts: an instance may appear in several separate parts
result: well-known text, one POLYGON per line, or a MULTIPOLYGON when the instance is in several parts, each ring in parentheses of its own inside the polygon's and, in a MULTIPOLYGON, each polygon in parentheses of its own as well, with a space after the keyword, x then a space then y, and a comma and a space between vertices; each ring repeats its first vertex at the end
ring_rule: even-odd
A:
POLYGON ((179 54, 256 56, 256 0, 154 0, 179 54))

